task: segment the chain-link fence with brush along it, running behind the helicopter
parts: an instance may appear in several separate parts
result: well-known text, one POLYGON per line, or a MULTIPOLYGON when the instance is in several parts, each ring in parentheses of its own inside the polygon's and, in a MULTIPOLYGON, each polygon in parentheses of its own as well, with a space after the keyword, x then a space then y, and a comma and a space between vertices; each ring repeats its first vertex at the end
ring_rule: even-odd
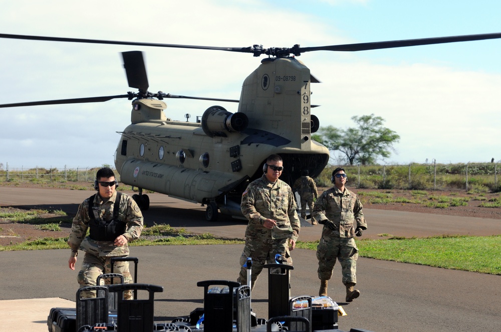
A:
MULTIPOLYGON (((348 174, 349 185, 375 189, 479 190, 501 191, 497 163, 411 163, 408 165, 340 165, 348 174)), ((92 182, 99 167, 62 168, 0 166, 0 181, 92 182)), ((315 178, 319 186, 331 186, 331 173, 338 165, 328 165, 315 178)), ((120 175, 114 169, 117 180, 120 175)))

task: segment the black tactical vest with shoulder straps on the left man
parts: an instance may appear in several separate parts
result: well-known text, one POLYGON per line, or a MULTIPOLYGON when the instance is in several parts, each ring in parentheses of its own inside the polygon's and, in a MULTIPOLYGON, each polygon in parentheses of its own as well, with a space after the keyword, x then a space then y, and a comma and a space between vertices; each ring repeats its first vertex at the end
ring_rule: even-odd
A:
POLYGON ((96 220, 92 207, 94 206, 94 198, 96 194, 89 197, 89 236, 96 241, 114 241, 119 235, 125 232, 125 222, 118 218, 120 209, 120 192, 117 192, 115 205, 113 205, 113 219, 111 220, 96 220))

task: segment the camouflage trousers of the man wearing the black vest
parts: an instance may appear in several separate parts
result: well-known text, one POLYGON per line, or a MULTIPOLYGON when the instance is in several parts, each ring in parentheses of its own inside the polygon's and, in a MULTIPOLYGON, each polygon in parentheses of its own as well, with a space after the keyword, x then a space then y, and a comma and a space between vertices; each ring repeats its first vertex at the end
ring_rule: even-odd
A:
MULTIPOLYGON (((98 257, 91 253, 86 252, 84 260, 82 261, 82 267, 80 272, 78 272, 78 283, 80 283, 80 288, 86 286, 95 286, 97 283, 97 277, 101 274, 111 273, 111 258, 108 257, 98 257)), ((128 261, 117 261, 113 267, 113 273, 120 273, 124 277, 124 283, 133 283, 132 276, 129 271, 128 261)), ((113 280, 113 283, 119 283, 120 280, 113 280)), ((106 278, 105 284, 110 284, 111 280, 106 278)), ((96 292, 93 290, 82 291, 82 298, 96 297, 96 292)), ((124 291, 125 299, 132 299, 132 290, 124 291)))

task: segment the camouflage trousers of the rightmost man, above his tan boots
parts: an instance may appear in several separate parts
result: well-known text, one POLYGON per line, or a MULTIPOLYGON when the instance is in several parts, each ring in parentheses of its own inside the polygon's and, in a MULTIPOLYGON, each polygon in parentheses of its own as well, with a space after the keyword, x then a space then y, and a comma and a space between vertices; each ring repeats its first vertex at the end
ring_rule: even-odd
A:
POLYGON ((322 237, 317 246, 318 277, 329 280, 336 258, 341 264, 343 283, 357 283, 358 248, 353 237, 322 237))

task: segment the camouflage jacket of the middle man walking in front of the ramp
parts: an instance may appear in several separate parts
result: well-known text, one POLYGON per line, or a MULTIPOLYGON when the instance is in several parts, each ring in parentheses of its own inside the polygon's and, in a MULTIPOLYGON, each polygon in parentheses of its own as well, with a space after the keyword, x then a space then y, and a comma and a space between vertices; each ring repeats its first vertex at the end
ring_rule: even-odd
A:
POLYGON ((242 194, 240 208, 249 220, 245 235, 270 232, 272 239, 298 240, 301 223, 296 212, 296 200, 292 188, 281 179, 270 182, 263 175, 250 182, 242 194), (263 225, 268 218, 277 221, 277 226, 273 229, 263 225))

